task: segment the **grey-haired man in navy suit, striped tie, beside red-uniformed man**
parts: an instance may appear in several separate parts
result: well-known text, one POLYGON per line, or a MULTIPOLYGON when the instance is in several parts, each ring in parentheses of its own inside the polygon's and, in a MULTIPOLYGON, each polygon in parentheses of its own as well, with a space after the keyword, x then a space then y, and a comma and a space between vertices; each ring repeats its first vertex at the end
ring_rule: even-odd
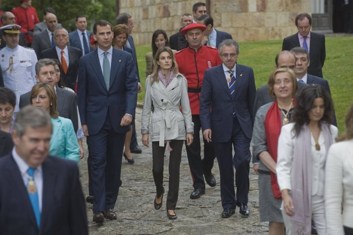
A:
POLYGON ((243 217, 249 216, 250 141, 256 89, 252 68, 236 63, 238 52, 233 39, 219 44, 223 63, 206 70, 200 98, 203 135, 212 141, 219 165, 222 218, 231 217, 236 205, 243 217))

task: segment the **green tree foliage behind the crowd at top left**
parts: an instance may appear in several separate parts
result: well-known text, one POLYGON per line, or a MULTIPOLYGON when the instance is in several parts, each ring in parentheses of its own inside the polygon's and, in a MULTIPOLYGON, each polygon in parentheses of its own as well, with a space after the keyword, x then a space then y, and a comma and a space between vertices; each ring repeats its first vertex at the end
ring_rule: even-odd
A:
MULTIPOLYGON (((19 0, 3 0, 1 9, 11 11, 19 6, 19 0)), ((56 11, 58 22, 69 32, 76 29, 75 18, 84 15, 87 18, 87 29, 91 29, 98 19, 108 20, 115 25, 115 1, 114 0, 33 0, 32 6, 36 8, 39 20, 43 20, 43 9, 52 7, 56 11)))

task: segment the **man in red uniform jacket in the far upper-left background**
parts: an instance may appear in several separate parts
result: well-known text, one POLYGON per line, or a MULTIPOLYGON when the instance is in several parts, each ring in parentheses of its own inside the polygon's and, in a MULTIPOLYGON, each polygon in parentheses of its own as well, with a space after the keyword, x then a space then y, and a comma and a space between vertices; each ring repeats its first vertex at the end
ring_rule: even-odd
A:
POLYGON ((33 40, 34 25, 39 23, 37 11, 32 7, 32 0, 20 0, 21 5, 13 8, 12 13, 16 16, 16 23, 20 25, 25 34, 25 41, 31 47, 33 40))

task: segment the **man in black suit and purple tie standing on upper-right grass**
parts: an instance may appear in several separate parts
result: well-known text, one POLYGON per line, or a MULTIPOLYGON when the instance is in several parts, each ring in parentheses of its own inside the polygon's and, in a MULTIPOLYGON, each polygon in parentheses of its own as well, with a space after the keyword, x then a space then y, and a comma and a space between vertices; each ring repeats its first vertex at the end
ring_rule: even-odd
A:
POLYGON ((307 72, 313 76, 323 77, 322 67, 326 58, 325 35, 310 31, 312 17, 307 13, 297 15, 295 25, 298 33, 283 39, 282 51, 290 51, 295 47, 305 48, 311 58, 311 65, 307 72))

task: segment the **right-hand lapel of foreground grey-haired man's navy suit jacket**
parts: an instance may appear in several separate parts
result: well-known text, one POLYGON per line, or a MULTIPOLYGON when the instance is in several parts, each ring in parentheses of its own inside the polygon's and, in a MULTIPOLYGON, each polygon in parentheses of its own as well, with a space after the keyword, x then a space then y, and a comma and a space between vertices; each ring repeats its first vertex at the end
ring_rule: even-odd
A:
POLYGON ((40 228, 46 224, 48 215, 51 213, 52 205, 57 204, 55 198, 55 184, 57 178, 57 168, 51 164, 49 156, 42 163, 43 170, 43 194, 40 217, 40 228), (49 170, 50 169, 50 170, 49 170))

